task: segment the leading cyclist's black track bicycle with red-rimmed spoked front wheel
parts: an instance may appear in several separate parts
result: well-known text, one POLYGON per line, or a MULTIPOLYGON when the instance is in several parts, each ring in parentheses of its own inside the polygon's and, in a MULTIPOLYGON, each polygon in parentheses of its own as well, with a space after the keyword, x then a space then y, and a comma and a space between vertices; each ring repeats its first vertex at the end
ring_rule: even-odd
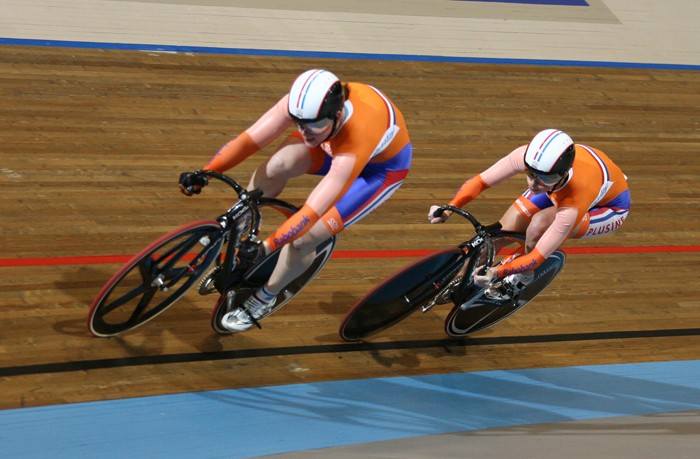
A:
MULTIPOLYGON (((213 171, 197 171, 233 188, 238 201, 214 220, 195 221, 161 236, 134 255, 102 287, 88 313, 90 332, 110 337, 140 327, 165 312, 193 286, 201 295, 218 294, 210 317, 217 333, 232 332, 221 319, 239 307, 272 274, 279 250, 261 256, 258 234, 277 228, 299 209, 285 201, 248 191, 234 179, 213 171), (199 283, 197 284, 197 282, 199 283)), ((337 235, 316 247, 312 264, 284 288, 275 306, 259 321, 278 311, 326 264, 337 235)))

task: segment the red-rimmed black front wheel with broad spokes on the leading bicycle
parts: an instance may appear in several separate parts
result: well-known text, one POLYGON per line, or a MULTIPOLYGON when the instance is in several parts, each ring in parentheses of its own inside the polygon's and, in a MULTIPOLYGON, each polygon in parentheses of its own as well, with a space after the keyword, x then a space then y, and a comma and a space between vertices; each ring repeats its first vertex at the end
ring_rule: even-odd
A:
POLYGON ((118 335, 163 313, 219 255, 222 234, 217 222, 200 221, 146 246, 97 294, 88 314, 90 332, 100 337, 118 335))

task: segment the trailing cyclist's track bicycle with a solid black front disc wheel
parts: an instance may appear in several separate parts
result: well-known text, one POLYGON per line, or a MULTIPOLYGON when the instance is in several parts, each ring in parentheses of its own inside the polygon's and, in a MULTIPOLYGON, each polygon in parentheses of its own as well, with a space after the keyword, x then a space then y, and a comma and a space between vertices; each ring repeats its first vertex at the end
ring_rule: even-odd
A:
POLYGON ((389 276, 358 301, 340 325, 340 336, 357 341, 400 322, 414 311, 431 310, 440 304, 454 307, 445 319, 445 333, 451 337, 485 330, 532 301, 561 272, 566 262, 562 251, 555 251, 535 270, 535 277, 515 297, 498 301, 488 298, 473 275, 514 253, 523 253, 525 236, 503 231, 499 223, 482 225, 471 213, 454 206, 443 206, 467 219, 476 234, 457 247, 430 254, 389 276))

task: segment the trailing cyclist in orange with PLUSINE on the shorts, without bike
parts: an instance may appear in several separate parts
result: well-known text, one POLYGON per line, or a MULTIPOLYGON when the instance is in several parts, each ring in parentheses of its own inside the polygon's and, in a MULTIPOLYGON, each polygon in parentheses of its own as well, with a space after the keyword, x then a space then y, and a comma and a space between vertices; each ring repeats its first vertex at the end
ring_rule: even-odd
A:
MULTIPOLYGON (((520 173, 527 174, 528 189, 500 219, 504 230, 525 234, 525 254, 516 254, 474 275, 494 300, 516 296, 532 281, 534 269, 569 238, 602 236, 617 230, 627 219, 630 193, 627 177, 602 151, 574 144, 557 129, 539 132, 523 145, 470 178, 450 204, 462 207, 484 190, 520 173), (502 279, 494 283, 495 279, 502 279)), ((431 223, 442 223, 450 215, 428 213, 431 223)))

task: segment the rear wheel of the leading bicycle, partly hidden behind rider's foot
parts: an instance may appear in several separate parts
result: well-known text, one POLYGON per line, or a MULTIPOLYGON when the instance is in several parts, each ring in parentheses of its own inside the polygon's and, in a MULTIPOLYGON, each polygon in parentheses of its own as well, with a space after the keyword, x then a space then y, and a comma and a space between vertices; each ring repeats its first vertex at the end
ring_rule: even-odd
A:
MULTIPOLYGON (((323 266, 328 262, 335 250, 335 244, 338 240, 338 236, 335 235, 331 238, 326 239, 324 242, 316 247, 316 258, 314 258, 313 263, 309 266, 304 273, 294 279, 291 284, 289 284, 285 289, 283 289, 277 295, 277 302, 274 307, 264 316, 262 316, 259 321, 265 317, 272 315, 273 313, 279 311, 282 306, 287 304, 292 298, 294 298, 301 290, 316 277, 316 274, 323 268, 323 266)), ((272 271, 275 269, 277 260, 279 259, 280 251, 276 251, 267 258, 262 260, 257 266, 254 266, 250 272, 246 273, 244 281, 239 285, 234 286, 232 289, 232 305, 230 307, 226 304, 225 295, 219 295, 219 299, 214 306, 211 314, 211 328, 222 335, 229 335, 234 332, 223 328, 221 325, 221 320, 224 315, 234 310, 235 308, 241 306, 250 295, 252 295, 255 290, 257 290, 261 285, 263 285, 270 278, 272 271)))

